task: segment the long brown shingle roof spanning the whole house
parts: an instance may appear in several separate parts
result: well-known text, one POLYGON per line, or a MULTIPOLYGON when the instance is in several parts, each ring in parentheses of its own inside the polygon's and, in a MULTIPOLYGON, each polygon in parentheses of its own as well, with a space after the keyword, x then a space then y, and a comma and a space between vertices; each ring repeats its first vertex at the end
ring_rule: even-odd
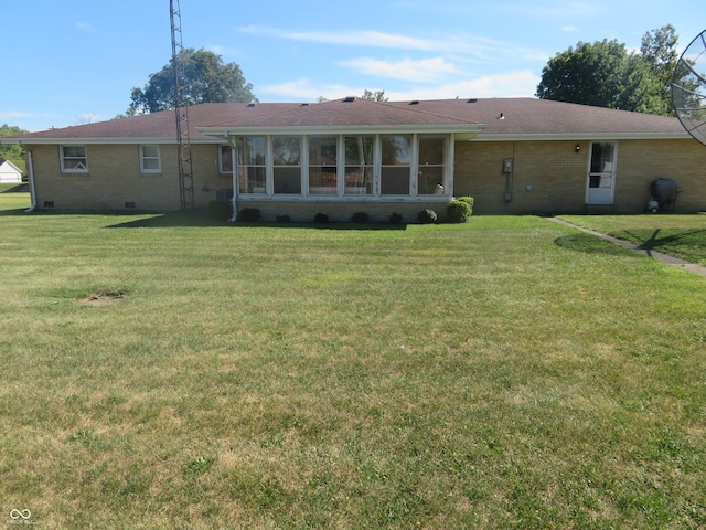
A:
MULTIPOLYGON (((174 141, 172 110, 96 124, 30 132, 25 140, 174 141)), ((322 104, 208 103, 189 107, 190 135, 194 142, 213 141, 201 127, 287 128, 353 126, 448 126, 484 124, 482 139, 512 137, 685 137, 676 118, 629 113, 587 105, 535 98, 438 99, 370 102, 346 98, 322 104), (352 100, 349 100, 352 99, 352 100), (499 119, 501 116, 503 119, 499 119)))

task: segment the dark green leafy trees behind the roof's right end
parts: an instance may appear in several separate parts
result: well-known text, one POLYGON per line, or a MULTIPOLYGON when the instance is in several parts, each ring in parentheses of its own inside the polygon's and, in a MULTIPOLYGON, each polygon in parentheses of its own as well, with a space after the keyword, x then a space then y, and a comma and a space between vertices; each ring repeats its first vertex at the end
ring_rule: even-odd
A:
POLYGON ((649 114, 673 113, 672 72, 677 62, 672 25, 645 33, 640 52, 616 40, 579 42, 542 70, 537 97, 649 114))

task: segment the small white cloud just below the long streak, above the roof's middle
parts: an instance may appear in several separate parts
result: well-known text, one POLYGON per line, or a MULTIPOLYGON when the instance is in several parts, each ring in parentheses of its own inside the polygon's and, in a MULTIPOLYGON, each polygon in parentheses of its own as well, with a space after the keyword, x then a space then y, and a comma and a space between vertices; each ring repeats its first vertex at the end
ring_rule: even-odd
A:
POLYGON ((458 73, 456 66, 443 57, 422 59, 419 61, 405 59, 396 63, 362 57, 341 64, 367 75, 419 83, 431 83, 441 75, 458 73))

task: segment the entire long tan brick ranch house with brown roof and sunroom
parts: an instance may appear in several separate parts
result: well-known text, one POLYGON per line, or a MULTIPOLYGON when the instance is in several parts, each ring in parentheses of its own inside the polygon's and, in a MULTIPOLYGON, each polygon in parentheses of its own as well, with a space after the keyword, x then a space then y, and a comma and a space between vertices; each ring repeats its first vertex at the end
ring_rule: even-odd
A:
MULTIPOLYGON (((36 209, 181 208, 173 112, 30 132, 36 209)), ((193 204, 264 220, 365 212, 405 221, 456 195, 480 214, 643 212, 673 179, 676 212, 706 210, 706 149, 676 118, 535 98, 189 107, 193 204), (232 190, 235 190, 234 194, 232 190)))

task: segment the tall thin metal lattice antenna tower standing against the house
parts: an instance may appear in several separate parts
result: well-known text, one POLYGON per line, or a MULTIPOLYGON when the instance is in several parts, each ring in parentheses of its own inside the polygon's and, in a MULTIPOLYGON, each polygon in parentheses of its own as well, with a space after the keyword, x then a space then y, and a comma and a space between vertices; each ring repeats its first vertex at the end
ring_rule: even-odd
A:
POLYGON ((182 51, 181 7, 179 0, 169 0, 172 25, 172 65, 174 67, 174 114, 176 117, 176 142, 179 153, 179 190, 181 209, 194 209, 194 172, 189 136, 189 105, 183 95, 186 84, 182 51))

